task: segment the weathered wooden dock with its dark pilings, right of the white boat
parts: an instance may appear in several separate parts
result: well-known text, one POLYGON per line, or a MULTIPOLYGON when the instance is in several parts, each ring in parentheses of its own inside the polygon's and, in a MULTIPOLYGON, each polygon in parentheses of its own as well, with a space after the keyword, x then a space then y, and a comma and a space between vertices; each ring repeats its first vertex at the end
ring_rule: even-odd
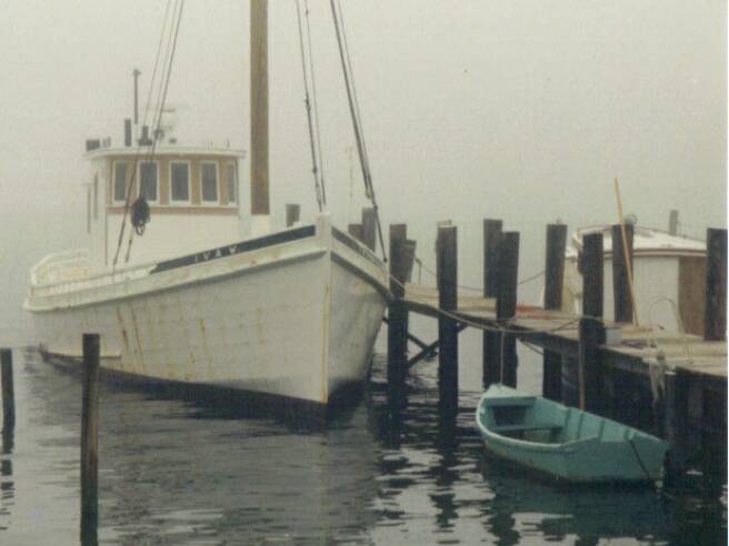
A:
MULTIPOLYGON (((542 395, 627 422, 668 439, 671 479, 700 459, 726 466, 727 442, 727 231, 708 230, 705 335, 665 332, 636 324, 632 226, 612 226, 613 315, 603 318, 602 234, 588 234, 581 250, 582 313, 562 311, 567 228, 547 228, 545 307, 517 303, 519 234, 502 222, 483 222, 483 292, 459 291, 456 226, 438 228, 437 283, 408 282, 415 242, 407 226, 390 226, 388 392, 405 400, 405 378, 426 356, 439 354, 441 414, 458 414, 458 333, 483 331, 483 387, 517 386, 520 341, 542 352, 542 395), (625 247, 623 247, 625 244, 625 247), (408 331, 409 313, 438 320, 438 340, 427 344, 408 331), (419 351, 408 354, 408 341, 419 351), (648 415, 648 418, 646 418, 648 415), (637 419, 639 423, 631 423, 637 419)), ((356 232, 357 230, 352 230, 356 232)), ((397 405, 397 404, 396 404, 397 405)))

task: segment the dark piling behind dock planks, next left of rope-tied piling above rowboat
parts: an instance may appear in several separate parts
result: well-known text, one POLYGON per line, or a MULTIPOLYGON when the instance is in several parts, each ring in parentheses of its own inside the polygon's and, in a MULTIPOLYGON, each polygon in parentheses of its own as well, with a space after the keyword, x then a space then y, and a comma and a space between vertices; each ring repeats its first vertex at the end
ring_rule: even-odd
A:
MULTIPOLYGON (((547 225, 547 252, 545 260, 545 309, 562 309, 565 284, 565 249, 567 247, 567 225, 547 225)), ((545 350, 542 395, 553 401, 562 400, 562 357, 559 353, 545 350)))

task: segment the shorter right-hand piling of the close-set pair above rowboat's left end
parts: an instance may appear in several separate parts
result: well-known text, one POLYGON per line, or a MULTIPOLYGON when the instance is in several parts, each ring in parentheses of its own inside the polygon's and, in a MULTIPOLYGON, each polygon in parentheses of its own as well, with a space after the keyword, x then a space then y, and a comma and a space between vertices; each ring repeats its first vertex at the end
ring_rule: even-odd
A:
MULTIPOLYGON (((496 318, 508 327, 517 315, 517 287, 519 284, 519 233, 507 231, 499 241, 497 271, 496 318)), ((499 382, 517 386, 517 338, 511 334, 498 333, 497 362, 499 382)))

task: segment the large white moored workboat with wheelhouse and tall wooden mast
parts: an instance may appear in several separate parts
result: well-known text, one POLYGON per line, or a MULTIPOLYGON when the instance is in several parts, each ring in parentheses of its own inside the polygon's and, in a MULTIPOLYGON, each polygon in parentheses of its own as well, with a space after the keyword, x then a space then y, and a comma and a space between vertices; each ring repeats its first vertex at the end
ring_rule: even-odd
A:
POLYGON ((326 211, 270 230, 266 10, 251 3, 249 218, 241 150, 186 146, 161 115, 151 130, 126 120, 123 145, 87 141, 86 247, 30 273, 44 355, 79 362, 81 334, 94 332, 111 373, 316 405, 366 380, 383 262, 326 211))

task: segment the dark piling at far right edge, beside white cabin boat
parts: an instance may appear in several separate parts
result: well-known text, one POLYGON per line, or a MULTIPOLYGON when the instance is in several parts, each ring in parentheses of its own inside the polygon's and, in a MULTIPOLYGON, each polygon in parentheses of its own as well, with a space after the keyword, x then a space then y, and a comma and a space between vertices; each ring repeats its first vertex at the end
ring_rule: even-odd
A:
POLYGON ((727 338, 727 230, 707 230, 707 283, 703 338, 727 338))

